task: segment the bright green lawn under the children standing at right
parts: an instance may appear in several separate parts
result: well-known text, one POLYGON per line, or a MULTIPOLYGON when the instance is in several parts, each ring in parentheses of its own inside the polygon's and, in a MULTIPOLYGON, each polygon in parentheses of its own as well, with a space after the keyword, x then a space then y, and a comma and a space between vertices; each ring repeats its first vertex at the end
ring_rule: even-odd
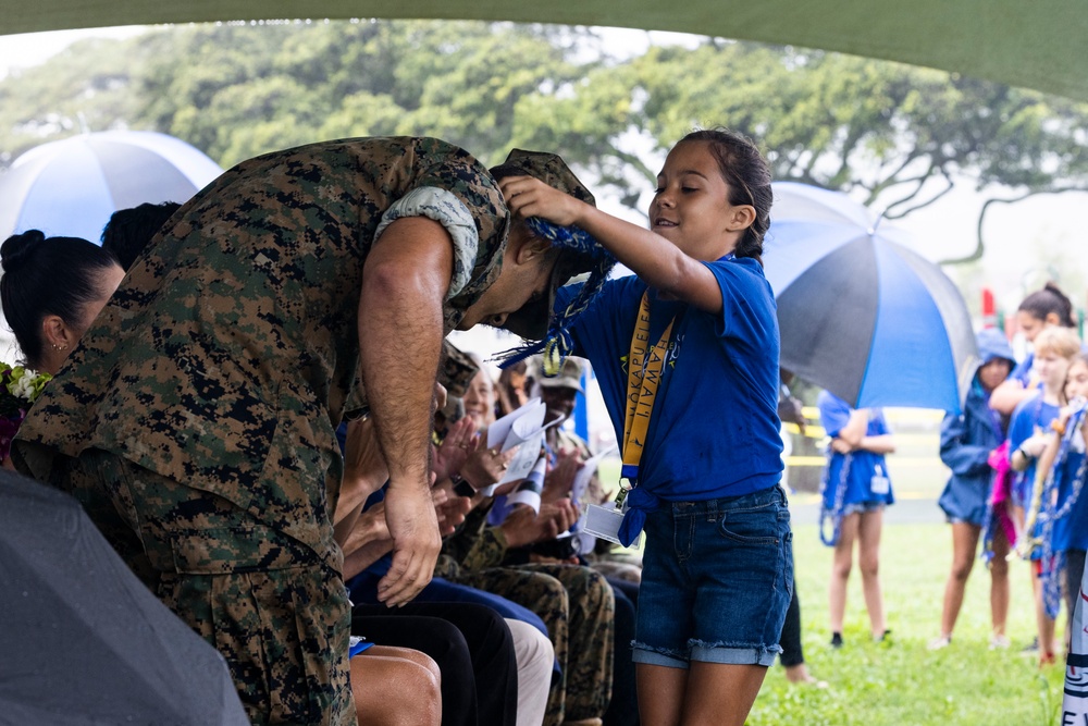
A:
MULTIPOLYGON (((747 723, 819 726, 959 726, 960 724, 1058 723, 1062 666, 1040 672, 1018 650, 1031 640, 1035 620, 1027 565, 1011 568, 1012 606, 1007 633, 1012 648, 988 649, 989 574, 978 563, 967 583, 964 607, 951 647, 926 649, 938 635, 944 578, 951 565, 951 532, 943 525, 885 528, 881 580, 891 644, 869 636, 860 576, 851 576, 843 638, 828 645, 827 580, 831 550, 819 544, 816 528, 796 526, 794 555, 801 594, 805 661, 829 687, 794 686, 782 668, 767 674, 747 723)), ((1064 627, 1063 619, 1059 628, 1064 627)), ((1061 630, 1060 630, 1061 631, 1061 630)))

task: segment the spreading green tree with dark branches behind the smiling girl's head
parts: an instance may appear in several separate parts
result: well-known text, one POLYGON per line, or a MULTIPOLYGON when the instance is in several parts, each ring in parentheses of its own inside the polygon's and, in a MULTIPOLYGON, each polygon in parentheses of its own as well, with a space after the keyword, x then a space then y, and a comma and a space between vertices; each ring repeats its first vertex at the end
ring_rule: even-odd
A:
MULTIPOLYGON (((663 151, 693 127, 721 124, 758 139, 775 179, 846 192, 889 219, 957 183, 1006 187, 1011 197, 994 201, 1088 188, 1088 104, 938 71, 707 39, 597 69, 578 91, 553 116, 632 112, 586 151, 599 170, 630 163, 621 149, 632 128, 663 151)), ((654 172, 641 171, 652 184, 654 172)), ((981 256, 981 225, 967 260, 981 256)))

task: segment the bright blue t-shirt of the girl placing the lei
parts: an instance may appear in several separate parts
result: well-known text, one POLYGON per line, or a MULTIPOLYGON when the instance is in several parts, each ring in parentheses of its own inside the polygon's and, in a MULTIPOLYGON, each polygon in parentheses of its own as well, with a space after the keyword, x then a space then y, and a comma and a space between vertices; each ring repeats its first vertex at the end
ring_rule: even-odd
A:
MULTIPOLYGON (((782 476, 778 420, 778 318, 775 296, 754 259, 705 262, 721 288, 713 315, 651 291, 650 343, 676 317, 646 431, 632 508, 656 500, 697 502, 776 485, 782 476)), ((617 440, 623 439, 627 357, 646 283, 608 281, 571 327, 574 355, 589 358, 617 440)), ((556 309, 577 293, 559 291, 556 309)), ((629 517, 630 518, 630 517, 629 517)), ((634 521, 641 529, 641 520, 634 521)))

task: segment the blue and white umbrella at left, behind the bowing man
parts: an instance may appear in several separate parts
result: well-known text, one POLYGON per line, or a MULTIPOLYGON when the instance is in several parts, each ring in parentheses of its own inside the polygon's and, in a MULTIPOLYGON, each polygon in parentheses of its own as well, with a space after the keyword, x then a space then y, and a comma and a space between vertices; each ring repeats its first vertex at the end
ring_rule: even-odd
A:
POLYGON ((98 242, 110 214, 144 202, 185 202, 222 170, 181 139, 109 131, 50 141, 0 174, 0 241, 37 229, 98 242))

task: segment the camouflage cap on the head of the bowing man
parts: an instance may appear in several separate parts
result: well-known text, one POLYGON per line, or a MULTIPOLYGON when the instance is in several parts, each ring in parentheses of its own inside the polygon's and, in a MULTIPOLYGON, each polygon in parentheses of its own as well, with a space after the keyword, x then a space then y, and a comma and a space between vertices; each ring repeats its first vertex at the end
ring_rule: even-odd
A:
MULTIPOLYGON (((556 153, 514 149, 505 162, 493 167, 490 171, 496 180, 507 176, 532 176, 576 199, 596 206, 596 200, 590 190, 578 181, 562 158, 556 153)), ((548 323, 552 320, 555 291, 567 284, 571 278, 590 272, 596 267, 597 260, 592 256, 564 249, 552 270, 548 294, 529 300, 521 309, 510 313, 503 328, 527 340, 543 340, 547 335, 548 323)))

